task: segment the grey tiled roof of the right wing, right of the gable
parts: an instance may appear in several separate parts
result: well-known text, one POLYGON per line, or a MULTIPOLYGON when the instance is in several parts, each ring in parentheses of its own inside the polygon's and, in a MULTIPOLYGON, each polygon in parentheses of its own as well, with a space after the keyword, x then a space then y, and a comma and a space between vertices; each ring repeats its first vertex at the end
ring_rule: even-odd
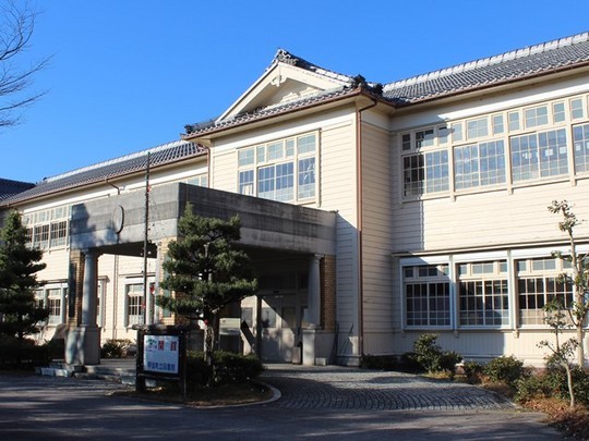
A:
POLYGON ((383 96, 394 102, 413 103, 588 62, 589 34, 585 33, 386 84, 383 96))

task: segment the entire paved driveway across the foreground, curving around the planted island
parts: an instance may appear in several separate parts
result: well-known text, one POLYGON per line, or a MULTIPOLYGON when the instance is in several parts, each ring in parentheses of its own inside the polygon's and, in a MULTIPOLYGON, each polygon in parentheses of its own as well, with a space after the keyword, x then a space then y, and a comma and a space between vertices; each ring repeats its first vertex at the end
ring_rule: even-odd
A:
MULTIPOLYGON (((130 360, 106 362, 119 373, 130 360)), ((0 375, 0 440, 556 441, 539 413, 479 388, 344 368, 272 365, 257 405, 194 408, 112 395, 110 381, 0 375)))

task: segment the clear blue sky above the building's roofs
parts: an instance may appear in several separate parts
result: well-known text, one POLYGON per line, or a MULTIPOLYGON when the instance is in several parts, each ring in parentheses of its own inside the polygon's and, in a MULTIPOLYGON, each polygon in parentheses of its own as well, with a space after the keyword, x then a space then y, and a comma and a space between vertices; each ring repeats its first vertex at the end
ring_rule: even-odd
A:
MULTIPOLYGON (((3 0, 0 0, 3 1, 3 0)), ((21 0, 16 0, 21 1, 21 0)), ((38 182, 176 140, 279 48, 389 83, 589 30, 587 0, 37 0, 47 95, 0 131, 0 177, 38 182)))

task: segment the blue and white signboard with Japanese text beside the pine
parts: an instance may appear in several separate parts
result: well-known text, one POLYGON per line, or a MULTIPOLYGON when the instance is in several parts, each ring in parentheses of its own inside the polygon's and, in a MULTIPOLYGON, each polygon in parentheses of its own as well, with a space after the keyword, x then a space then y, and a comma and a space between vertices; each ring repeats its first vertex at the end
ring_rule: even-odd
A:
POLYGON ((178 375, 180 336, 143 335, 143 369, 146 372, 178 375))

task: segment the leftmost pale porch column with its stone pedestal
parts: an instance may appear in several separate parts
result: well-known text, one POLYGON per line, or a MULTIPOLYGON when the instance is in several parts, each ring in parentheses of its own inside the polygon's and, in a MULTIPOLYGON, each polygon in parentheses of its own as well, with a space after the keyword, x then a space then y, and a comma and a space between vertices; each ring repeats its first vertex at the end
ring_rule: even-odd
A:
POLYGON ((70 329, 65 342, 65 363, 70 365, 100 364, 100 328, 96 324, 96 289, 98 284, 98 254, 84 253, 84 287, 82 291, 82 320, 70 329))

